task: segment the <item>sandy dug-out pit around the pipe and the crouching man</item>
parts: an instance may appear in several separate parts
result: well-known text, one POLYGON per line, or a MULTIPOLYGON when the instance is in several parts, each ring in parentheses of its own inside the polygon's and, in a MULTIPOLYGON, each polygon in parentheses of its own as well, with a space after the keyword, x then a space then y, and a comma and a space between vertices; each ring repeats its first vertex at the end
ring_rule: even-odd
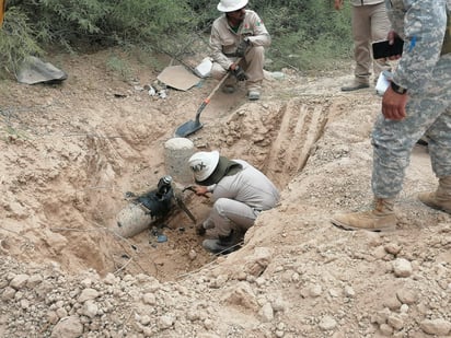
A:
MULTIPOLYGON (((167 174, 164 142, 194 119, 217 82, 150 96, 143 88, 158 72, 128 59, 132 77, 126 81, 124 73, 108 71, 112 55, 54 57, 69 74, 62 84, 2 82, 2 250, 25 261, 54 260, 73 272, 94 268, 101 275, 175 279, 215 259, 183 211, 164 222, 165 243, 152 231, 124 238, 112 229, 128 203, 127 191, 149 190, 167 174)), ((322 97, 280 101, 290 95, 287 85, 289 72, 284 80, 268 73, 264 98, 254 103, 243 85, 232 95, 218 91, 203 112, 204 128, 188 137, 195 150, 247 160, 284 189, 305 164, 333 105, 322 97)), ((189 191, 184 197, 203 221, 210 201, 189 191)))

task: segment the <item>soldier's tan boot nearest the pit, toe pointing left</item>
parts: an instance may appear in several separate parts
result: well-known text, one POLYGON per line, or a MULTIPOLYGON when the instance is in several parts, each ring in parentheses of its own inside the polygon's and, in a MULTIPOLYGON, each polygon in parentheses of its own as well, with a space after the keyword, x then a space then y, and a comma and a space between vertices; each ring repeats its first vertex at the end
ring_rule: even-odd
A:
POLYGON ((390 231, 396 226, 396 215, 393 211, 394 199, 377 198, 374 208, 369 211, 339 213, 331 221, 345 230, 390 231))

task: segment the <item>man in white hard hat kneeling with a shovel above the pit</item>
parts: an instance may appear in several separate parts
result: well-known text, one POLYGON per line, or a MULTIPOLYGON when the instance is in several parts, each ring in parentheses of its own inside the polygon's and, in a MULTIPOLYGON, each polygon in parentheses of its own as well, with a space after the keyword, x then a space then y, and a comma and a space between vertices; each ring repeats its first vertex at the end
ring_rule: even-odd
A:
POLYGON ((264 47, 270 45, 270 36, 258 14, 246 10, 246 4, 247 0, 221 0, 218 3, 218 10, 223 14, 215 20, 211 28, 211 75, 220 80, 230 71, 234 78, 224 84, 223 91, 233 93, 236 80, 246 81, 248 100, 258 100, 264 78, 264 47), (238 58, 241 61, 235 65, 238 58))

